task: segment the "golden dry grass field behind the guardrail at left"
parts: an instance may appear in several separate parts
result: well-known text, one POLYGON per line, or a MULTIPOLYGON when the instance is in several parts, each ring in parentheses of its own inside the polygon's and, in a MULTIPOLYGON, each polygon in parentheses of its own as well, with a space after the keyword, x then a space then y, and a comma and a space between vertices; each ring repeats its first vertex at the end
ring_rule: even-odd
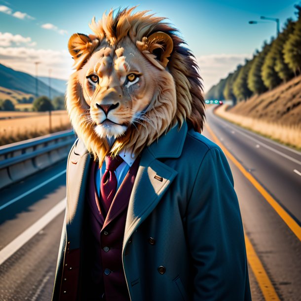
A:
POLYGON ((18 142, 41 135, 70 129, 70 121, 66 111, 54 111, 51 116, 51 131, 49 131, 48 113, 33 112, 1 112, 0 145, 18 142))

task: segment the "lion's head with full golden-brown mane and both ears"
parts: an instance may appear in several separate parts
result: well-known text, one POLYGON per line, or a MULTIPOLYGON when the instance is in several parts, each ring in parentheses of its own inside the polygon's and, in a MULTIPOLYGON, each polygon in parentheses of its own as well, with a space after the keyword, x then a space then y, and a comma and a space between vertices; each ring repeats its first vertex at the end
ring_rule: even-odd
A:
POLYGON ((203 128, 194 56, 165 18, 134 9, 94 18, 93 35, 74 34, 68 43, 76 71, 68 82, 67 110, 100 163, 124 148, 140 153, 184 120, 198 132, 203 128))

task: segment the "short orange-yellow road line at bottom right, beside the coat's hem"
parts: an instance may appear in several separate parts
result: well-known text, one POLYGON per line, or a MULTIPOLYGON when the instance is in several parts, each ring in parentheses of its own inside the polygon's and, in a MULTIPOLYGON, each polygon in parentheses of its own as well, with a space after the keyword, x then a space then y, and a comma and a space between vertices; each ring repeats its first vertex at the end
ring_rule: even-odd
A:
POLYGON ((259 257, 257 256, 250 242, 250 239, 246 234, 245 234, 245 243, 246 243, 246 251, 247 251, 247 260, 251 265, 253 273, 263 293, 264 299, 266 301, 271 301, 271 300, 280 301, 271 281, 267 276, 267 273, 263 268, 263 264, 261 263, 259 257))

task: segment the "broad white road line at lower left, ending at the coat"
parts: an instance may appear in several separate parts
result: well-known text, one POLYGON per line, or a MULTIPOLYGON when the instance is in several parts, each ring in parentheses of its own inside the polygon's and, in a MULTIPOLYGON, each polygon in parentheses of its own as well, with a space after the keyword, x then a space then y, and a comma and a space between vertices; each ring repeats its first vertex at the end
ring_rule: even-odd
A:
POLYGON ((27 228, 23 233, 16 237, 6 247, 0 251, 0 265, 4 263, 10 256, 17 252, 25 243, 34 237, 42 228, 47 226, 54 218, 56 218, 66 207, 66 198, 56 204, 44 216, 42 216, 35 224, 27 228))

